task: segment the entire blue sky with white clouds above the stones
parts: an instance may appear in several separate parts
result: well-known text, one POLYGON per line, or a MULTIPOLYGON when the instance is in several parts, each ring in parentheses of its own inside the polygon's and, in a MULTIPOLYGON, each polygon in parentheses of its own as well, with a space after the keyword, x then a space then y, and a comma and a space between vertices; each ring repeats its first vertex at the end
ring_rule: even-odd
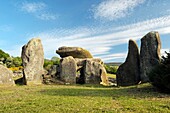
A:
POLYGON ((170 49, 169 0, 0 0, 0 49, 20 56, 30 39, 42 40, 46 58, 61 46, 89 50, 104 62, 123 62, 128 40, 158 31, 170 49))

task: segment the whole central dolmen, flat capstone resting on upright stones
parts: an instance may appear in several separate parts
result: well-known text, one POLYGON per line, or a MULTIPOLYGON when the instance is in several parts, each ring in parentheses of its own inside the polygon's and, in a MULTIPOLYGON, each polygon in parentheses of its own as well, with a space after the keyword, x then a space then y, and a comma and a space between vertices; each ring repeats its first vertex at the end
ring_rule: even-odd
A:
POLYGON ((92 58, 89 51, 80 47, 61 47, 59 78, 68 83, 108 85, 107 72, 101 59, 92 58))

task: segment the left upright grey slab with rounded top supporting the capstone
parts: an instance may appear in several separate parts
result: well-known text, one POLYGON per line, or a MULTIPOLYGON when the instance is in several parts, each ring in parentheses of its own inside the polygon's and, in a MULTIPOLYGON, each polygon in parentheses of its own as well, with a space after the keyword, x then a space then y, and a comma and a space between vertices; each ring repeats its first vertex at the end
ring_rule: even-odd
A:
POLYGON ((76 84, 76 62, 72 56, 60 60, 60 79, 65 83, 76 84))

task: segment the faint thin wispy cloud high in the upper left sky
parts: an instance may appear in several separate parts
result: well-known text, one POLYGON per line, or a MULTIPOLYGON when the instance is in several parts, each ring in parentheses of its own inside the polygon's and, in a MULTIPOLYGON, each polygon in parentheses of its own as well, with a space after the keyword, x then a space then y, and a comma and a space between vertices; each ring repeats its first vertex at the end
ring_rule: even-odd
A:
POLYGON ((43 2, 23 2, 21 10, 41 20, 56 20, 56 14, 49 13, 47 4, 43 2))

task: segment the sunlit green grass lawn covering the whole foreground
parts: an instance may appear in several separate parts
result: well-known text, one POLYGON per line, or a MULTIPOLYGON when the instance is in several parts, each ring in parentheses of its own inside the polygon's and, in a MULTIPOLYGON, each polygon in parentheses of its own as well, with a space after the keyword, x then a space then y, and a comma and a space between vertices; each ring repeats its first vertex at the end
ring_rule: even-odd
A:
POLYGON ((166 113, 170 95, 149 84, 131 87, 99 85, 0 86, 3 113, 166 113))

